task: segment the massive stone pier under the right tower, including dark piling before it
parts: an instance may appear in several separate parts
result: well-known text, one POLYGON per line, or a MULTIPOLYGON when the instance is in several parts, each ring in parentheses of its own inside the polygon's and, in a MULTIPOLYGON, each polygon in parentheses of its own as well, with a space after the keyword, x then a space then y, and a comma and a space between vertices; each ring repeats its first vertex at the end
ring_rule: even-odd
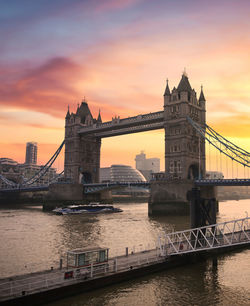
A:
POLYGON ((150 185, 149 215, 190 215, 191 227, 216 223, 215 186, 195 188, 192 180, 157 180, 150 185))

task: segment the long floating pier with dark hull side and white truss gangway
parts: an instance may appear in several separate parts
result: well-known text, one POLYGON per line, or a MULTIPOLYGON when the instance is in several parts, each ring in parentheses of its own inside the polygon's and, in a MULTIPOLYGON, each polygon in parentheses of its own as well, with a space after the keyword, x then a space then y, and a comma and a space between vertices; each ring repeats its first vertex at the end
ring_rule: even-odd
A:
MULTIPOLYGON (((129 253, 126 249, 126 255, 115 258, 108 258, 108 248, 98 248, 94 252, 106 252, 99 264, 92 260, 88 267, 72 267, 71 258, 68 267, 0 279, 0 304, 42 305, 207 256, 248 248, 250 218, 168 233, 159 237, 157 244, 156 248, 141 252, 129 253)), ((80 249, 69 253, 78 256, 77 262, 83 260, 80 249)))

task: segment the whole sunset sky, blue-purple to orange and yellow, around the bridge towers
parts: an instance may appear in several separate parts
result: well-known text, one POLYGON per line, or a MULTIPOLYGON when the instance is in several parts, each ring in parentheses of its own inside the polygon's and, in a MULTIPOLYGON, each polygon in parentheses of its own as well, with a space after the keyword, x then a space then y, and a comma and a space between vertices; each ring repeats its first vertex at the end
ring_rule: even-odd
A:
MULTIPOLYGON (((186 67, 207 123, 250 151, 250 1, 0 0, 0 157, 45 163, 85 96, 103 121, 163 109, 186 67)), ((160 157, 164 132, 102 141, 102 166, 160 157)), ((63 156, 55 164, 63 167, 63 156)))

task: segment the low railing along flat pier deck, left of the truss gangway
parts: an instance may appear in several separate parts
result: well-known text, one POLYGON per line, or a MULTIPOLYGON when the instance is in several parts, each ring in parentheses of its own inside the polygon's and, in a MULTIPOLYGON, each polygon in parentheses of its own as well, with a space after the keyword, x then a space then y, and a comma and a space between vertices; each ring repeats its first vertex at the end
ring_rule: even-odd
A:
POLYGON ((65 268, 58 272, 48 271, 44 275, 37 274, 27 278, 4 282, 0 284, 0 301, 46 291, 59 286, 63 287, 78 282, 88 281, 91 278, 98 278, 131 269, 137 269, 144 265, 154 264, 165 260, 156 249, 153 250, 153 254, 152 250, 148 251, 148 256, 146 251, 144 251, 143 254, 144 256, 137 253, 130 255, 129 257, 122 256, 112 258, 106 264, 91 265, 88 268, 65 268), (133 256, 132 260, 131 256, 133 256), (65 273, 70 273, 71 276, 65 278, 65 273))

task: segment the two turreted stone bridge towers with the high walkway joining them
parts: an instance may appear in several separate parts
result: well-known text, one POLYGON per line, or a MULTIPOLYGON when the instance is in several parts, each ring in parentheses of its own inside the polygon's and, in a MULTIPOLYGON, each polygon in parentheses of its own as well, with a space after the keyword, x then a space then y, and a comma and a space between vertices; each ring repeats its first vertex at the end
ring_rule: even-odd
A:
POLYGON ((102 138, 164 129, 165 172, 180 180, 202 177, 205 139, 192 128, 187 117, 205 128, 205 113, 203 90, 197 98, 186 73, 172 92, 167 82, 162 111, 102 122, 100 113, 97 119, 93 118, 83 101, 76 113, 68 110, 65 118, 65 176, 75 183, 99 183, 102 138))

